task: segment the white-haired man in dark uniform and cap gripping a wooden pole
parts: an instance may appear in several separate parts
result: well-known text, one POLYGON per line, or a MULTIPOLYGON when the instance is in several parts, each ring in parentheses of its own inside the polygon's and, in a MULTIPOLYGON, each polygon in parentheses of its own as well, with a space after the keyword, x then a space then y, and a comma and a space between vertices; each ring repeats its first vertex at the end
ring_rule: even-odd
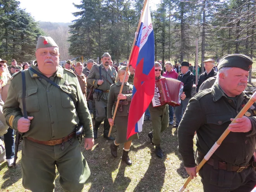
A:
POLYGON ((255 106, 231 123, 249 100, 243 92, 253 61, 246 55, 225 55, 218 65, 216 83, 189 101, 178 127, 178 150, 187 173, 193 178, 196 131, 197 164, 230 126, 231 131, 199 171, 204 192, 251 192, 256 185, 253 153, 256 144, 255 106))

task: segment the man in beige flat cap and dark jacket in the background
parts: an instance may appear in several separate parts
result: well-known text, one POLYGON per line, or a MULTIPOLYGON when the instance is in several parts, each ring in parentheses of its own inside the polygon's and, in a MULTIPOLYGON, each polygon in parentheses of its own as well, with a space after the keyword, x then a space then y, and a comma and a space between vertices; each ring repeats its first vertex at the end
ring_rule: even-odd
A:
POLYGON ((200 75, 198 84, 196 86, 196 92, 198 93, 199 87, 202 85, 202 83, 207 80, 210 77, 216 76, 217 72, 214 71, 214 60, 213 59, 207 59, 204 61, 204 68, 205 71, 200 75))

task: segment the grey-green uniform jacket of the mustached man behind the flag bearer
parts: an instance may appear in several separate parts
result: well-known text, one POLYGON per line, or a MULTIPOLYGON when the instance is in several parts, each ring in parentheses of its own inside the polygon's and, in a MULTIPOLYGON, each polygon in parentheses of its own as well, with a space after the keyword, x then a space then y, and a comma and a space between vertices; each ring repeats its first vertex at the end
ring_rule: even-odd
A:
MULTIPOLYGON (((95 89, 107 91, 110 89, 110 86, 113 83, 115 83, 115 79, 116 79, 116 69, 114 67, 109 67, 109 70, 107 71, 103 66, 103 64, 100 64, 100 65, 92 66, 92 69, 87 77, 87 83, 93 85, 95 89), (100 80, 99 67, 101 67, 101 75, 104 76, 104 78, 103 77, 101 78, 104 81, 101 85, 98 85, 98 81, 100 80)), ((103 92, 102 98, 107 100, 108 94, 109 93, 107 92, 103 92)), ((93 94, 93 98, 97 98, 96 93, 93 94)))

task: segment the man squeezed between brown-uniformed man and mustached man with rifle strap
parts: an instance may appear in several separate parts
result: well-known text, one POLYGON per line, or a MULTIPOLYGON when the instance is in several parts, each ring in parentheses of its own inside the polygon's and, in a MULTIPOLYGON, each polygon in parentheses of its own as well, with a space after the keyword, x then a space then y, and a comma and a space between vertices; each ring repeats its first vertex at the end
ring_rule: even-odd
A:
MULTIPOLYGON (((89 75, 89 73, 92 69, 93 64, 94 64, 94 61, 92 59, 88 59, 87 65, 83 69, 83 74, 85 74, 86 78, 88 77, 88 75, 89 75)), ((86 98, 88 97, 88 95, 91 91, 91 87, 92 87, 92 85, 87 83, 86 98)), ((93 87, 92 87, 92 89, 93 89, 93 87)), ((93 114, 93 119, 95 119, 96 118, 95 99, 93 99, 92 101, 88 100, 88 106, 89 106, 90 112, 93 114)))

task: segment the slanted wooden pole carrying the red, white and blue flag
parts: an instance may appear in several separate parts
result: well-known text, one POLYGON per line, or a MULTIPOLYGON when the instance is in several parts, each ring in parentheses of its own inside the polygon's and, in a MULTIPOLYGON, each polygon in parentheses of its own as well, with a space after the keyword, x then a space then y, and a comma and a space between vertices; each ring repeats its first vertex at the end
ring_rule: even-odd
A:
MULTIPOLYGON (((139 21, 139 23, 138 23, 137 31, 136 31, 136 33, 135 33, 135 37, 134 37, 133 44, 132 44, 132 47, 131 47, 131 52, 130 52, 129 60, 127 61, 127 67, 126 67, 126 70, 125 70, 125 76, 124 76, 124 79, 123 79, 123 82, 122 82, 122 85, 121 85, 119 94, 121 94, 122 91, 123 91, 123 87, 124 87, 124 84, 125 84, 125 77, 126 77, 126 74, 127 74, 127 72, 128 72, 129 62, 130 62, 130 59, 131 59, 131 53, 132 53, 132 50, 133 50, 133 48, 134 48, 135 42, 136 42, 136 40, 137 40, 137 34, 138 34, 138 31, 140 30, 140 24, 141 24, 142 18, 143 18, 144 15, 145 15, 145 9, 146 9, 146 5, 147 5, 147 1, 148 1, 148 0, 145 0, 144 5, 143 5, 142 14, 141 14, 141 16, 140 16, 140 21, 139 21)), ((113 122, 114 122, 115 117, 116 117, 116 111, 117 111, 117 109, 118 109, 119 101, 120 101, 120 99, 118 99, 117 102, 116 102, 116 107, 115 107, 114 115, 113 115, 113 118, 112 118, 112 119, 113 119, 113 122)), ((111 131, 112 131, 112 126, 113 126, 113 125, 110 126, 108 137, 110 137, 110 134, 111 134, 111 131)))

